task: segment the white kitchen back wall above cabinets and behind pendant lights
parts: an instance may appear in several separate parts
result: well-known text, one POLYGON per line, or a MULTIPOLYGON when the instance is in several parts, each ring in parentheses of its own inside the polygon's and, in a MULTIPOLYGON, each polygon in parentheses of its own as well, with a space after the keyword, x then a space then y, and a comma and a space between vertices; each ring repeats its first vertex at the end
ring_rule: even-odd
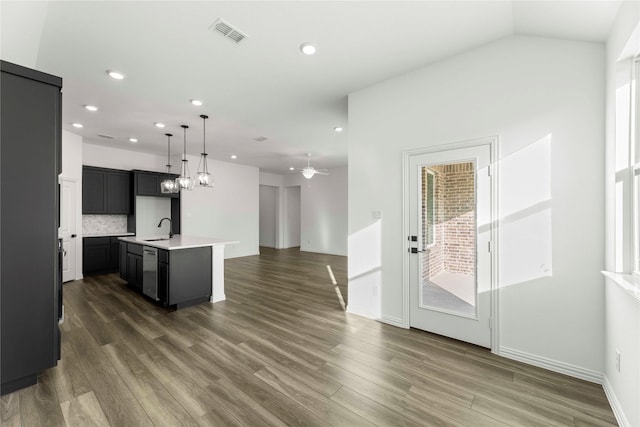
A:
MULTIPOLYGON (((192 175, 198 158, 188 156, 192 175)), ((86 165, 164 172, 166 157, 85 144, 86 165)), ((172 159, 174 165, 178 161, 172 159)), ((179 168, 174 166, 174 172, 179 168)), ((182 234, 220 237, 240 243, 225 247, 225 258, 258 253, 258 169, 209 159, 215 188, 195 188, 181 195, 182 234)))

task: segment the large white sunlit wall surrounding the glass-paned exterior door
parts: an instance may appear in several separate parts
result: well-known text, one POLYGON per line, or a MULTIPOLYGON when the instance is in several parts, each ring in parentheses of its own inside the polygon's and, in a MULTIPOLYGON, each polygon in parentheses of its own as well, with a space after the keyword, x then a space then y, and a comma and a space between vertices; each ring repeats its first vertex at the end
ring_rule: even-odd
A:
POLYGON ((498 135, 497 350, 601 378, 603 95, 603 45, 531 37, 508 37, 351 94, 349 310, 390 323, 408 315, 402 151, 498 135), (373 210, 383 211, 381 221, 373 210), (378 241, 355 250, 367 236, 378 241), (372 265, 354 278, 358 262, 372 265))

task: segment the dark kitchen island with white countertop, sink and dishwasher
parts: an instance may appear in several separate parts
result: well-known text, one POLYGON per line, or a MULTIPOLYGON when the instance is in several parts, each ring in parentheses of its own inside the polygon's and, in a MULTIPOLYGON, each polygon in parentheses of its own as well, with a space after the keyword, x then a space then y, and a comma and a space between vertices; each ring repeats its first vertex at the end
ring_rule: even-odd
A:
POLYGON ((178 309, 225 299, 224 247, 237 241, 183 235, 119 240, 120 276, 134 290, 178 309))

